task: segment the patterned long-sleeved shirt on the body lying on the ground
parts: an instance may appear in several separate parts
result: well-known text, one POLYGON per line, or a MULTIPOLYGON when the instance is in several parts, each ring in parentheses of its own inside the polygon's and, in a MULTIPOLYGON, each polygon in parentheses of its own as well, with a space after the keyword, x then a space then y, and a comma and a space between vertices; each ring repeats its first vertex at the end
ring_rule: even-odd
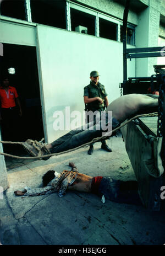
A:
POLYGON ((37 195, 47 195, 53 192, 58 191, 58 195, 61 198, 65 191, 68 188, 68 185, 72 185, 78 175, 78 171, 75 170, 63 170, 58 177, 55 177, 51 180, 50 183, 47 184, 44 188, 35 188, 31 189, 26 187, 27 190, 24 196, 37 196, 37 195))

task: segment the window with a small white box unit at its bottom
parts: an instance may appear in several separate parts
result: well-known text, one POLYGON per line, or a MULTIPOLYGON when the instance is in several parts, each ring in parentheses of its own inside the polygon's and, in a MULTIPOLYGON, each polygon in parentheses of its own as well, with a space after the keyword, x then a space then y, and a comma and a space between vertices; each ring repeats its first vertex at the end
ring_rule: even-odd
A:
MULTIPOLYGON (((70 8, 71 28, 72 31, 79 31, 79 26, 84 27, 81 31, 85 34, 95 35, 95 16, 89 13, 81 12, 70 8), (87 28, 87 33, 86 29, 87 28)), ((81 33, 82 33, 81 32, 81 33)))

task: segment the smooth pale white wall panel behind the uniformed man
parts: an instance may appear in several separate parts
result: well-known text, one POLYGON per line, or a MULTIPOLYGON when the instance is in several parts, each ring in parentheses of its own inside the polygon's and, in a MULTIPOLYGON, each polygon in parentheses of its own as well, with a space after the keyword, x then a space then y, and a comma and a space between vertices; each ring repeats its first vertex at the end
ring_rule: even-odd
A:
MULTIPOLYGON (((54 111, 64 111, 65 106, 70 106, 70 111, 83 113, 83 88, 89 84, 92 70, 100 72, 109 102, 120 96, 123 44, 44 25, 37 25, 37 37, 47 134, 51 142, 66 133, 53 130, 54 111)), ((128 61, 128 76, 135 76, 134 60, 128 61)))

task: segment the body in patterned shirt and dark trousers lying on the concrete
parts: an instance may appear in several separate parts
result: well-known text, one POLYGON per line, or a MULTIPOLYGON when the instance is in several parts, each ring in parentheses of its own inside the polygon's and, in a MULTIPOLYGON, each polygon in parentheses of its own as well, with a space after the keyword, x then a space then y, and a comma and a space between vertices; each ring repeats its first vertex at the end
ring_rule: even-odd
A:
POLYGON ((66 190, 76 190, 93 193, 101 197, 104 195, 106 199, 114 202, 141 205, 136 181, 123 182, 111 177, 91 177, 79 173, 74 163, 69 163, 69 166, 72 167, 70 171, 63 170, 59 174, 54 170, 49 170, 43 175, 43 188, 16 190, 14 194, 17 196, 38 196, 58 192, 59 197, 62 197, 66 190))

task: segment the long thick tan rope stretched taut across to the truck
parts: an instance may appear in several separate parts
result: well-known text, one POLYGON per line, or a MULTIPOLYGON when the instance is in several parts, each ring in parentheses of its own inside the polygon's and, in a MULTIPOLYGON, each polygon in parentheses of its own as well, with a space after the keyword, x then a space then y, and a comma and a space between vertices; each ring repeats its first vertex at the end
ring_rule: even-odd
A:
MULTIPOLYGON (((153 116, 158 116, 158 113, 155 112, 155 113, 150 113, 150 114, 136 115, 136 116, 134 116, 134 118, 131 118, 130 120, 124 122, 124 124, 118 126, 116 129, 112 130, 112 134, 113 134, 113 132, 115 132, 115 131, 119 130, 120 128, 122 128, 123 126, 127 125, 129 122, 133 121, 134 119, 141 118, 141 117, 153 117, 153 116)), ((12 157, 12 158, 18 158, 18 159, 42 159, 44 157, 59 156, 59 154, 69 153, 69 152, 78 150, 81 147, 88 146, 91 143, 95 143, 95 142, 101 141, 102 139, 106 140, 109 137, 111 137, 111 136, 107 136, 107 137, 106 136, 102 136, 102 137, 94 138, 92 141, 84 143, 83 145, 81 145, 79 147, 72 148, 71 150, 67 150, 67 151, 63 151, 63 152, 59 152, 59 153, 45 154, 43 156, 37 156, 37 157, 19 157, 19 156, 13 156, 12 154, 1 153, 1 152, 0 152, 0 154, 2 154, 3 156, 12 157)), ((23 145, 24 142, 0 141, 0 143, 23 145)))

